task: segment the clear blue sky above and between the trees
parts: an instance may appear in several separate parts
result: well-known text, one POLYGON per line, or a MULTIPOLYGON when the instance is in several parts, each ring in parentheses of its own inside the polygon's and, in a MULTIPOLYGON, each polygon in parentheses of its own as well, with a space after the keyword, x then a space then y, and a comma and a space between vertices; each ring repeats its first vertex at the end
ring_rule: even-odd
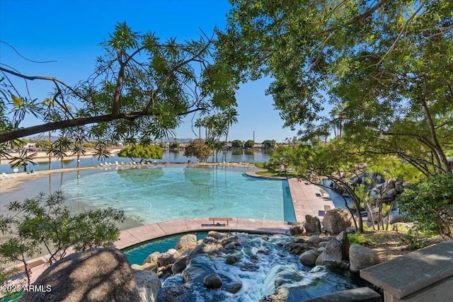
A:
MULTIPOLYGON (((229 8, 226 0, 0 0, 0 40, 28 59, 56 61, 31 63, 0 43, 0 63, 22 74, 55 76, 75 85, 92 74, 96 57, 102 54, 99 43, 108 39, 115 23, 126 21, 135 31, 185 40, 199 37, 199 28, 207 35, 216 25, 223 29, 229 8)), ((229 139, 253 139, 253 132, 257 142, 294 137, 295 132, 282 129, 273 100, 264 93, 269 83, 270 79, 249 82, 237 91, 239 123, 231 127, 229 139)), ((31 83, 30 91, 40 100, 51 86, 31 83)), ((178 138, 195 138, 192 117, 176 130, 178 138)))

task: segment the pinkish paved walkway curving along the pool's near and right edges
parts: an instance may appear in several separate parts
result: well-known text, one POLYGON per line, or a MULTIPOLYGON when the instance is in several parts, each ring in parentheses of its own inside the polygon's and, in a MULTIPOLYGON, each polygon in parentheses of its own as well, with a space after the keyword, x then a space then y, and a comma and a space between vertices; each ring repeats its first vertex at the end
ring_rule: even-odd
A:
MULTIPOLYGON (((256 175, 251 171, 247 174, 253 177, 268 178, 262 175, 256 175)), ((311 214, 319 216, 322 221, 326 207, 333 209, 333 202, 328 194, 322 193, 318 186, 311 185, 309 182, 299 181, 296 178, 289 178, 289 190, 292 196, 294 213, 296 214, 297 223, 305 221, 305 215, 311 214)), ((212 223, 207 218, 200 219, 180 219, 173 221, 163 221, 151 223, 145 226, 137 226, 120 232, 120 240, 115 243, 119 249, 127 248, 132 245, 142 243, 147 240, 153 240, 159 237, 174 235, 177 233, 187 233, 194 231, 244 231, 253 233, 286 233, 291 224, 285 221, 270 221, 261 219, 241 219, 233 218, 226 226, 202 226, 203 224, 212 223)), ((29 262, 36 260, 46 261, 45 256, 38 257, 29 262)), ((47 265, 34 267, 31 281, 44 272, 47 265)))

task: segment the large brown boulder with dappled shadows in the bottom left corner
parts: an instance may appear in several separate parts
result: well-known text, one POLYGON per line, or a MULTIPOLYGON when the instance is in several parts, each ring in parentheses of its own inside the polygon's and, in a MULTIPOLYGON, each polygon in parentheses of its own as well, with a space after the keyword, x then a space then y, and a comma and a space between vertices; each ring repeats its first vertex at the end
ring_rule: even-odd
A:
POLYGON ((76 252, 48 267, 33 284, 52 291, 25 291, 20 301, 140 301, 127 257, 115 248, 76 252))

